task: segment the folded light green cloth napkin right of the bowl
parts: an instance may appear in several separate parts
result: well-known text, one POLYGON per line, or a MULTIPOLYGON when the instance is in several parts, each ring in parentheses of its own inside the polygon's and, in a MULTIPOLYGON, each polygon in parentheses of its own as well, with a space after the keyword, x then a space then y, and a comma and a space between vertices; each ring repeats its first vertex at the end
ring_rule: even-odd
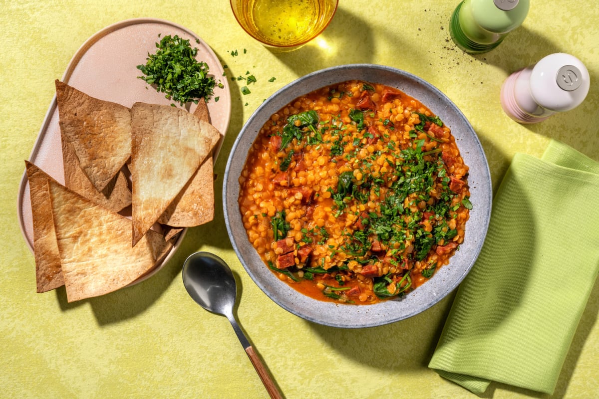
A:
POLYGON ((599 270, 598 198, 599 163, 567 145, 516 154, 429 367, 552 394, 599 270))

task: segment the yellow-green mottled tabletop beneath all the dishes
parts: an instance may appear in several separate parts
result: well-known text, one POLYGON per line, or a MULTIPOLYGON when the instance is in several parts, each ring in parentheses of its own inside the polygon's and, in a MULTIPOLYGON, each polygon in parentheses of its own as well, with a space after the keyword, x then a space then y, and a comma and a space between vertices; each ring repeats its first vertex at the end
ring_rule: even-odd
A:
MULTIPOLYGON (((383 327, 339 330, 311 324, 268 299, 249 278, 229 243, 220 205, 229 150, 254 109, 295 78, 346 63, 404 69, 446 93, 478 133, 495 189, 514 153, 540 156, 550 138, 599 160, 595 2, 531 0, 524 25, 480 56, 462 53, 450 40, 448 22, 457 4, 341 0, 322 35, 329 48, 309 44, 274 54, 238 27, 224 0, 2 1, 0 397, 266 398, 228 321, 205 312, 183 288, 181 263, 196 250, 213 251, 231 265, 241 284, 240 323, 287 398, 476 397, 426 367, 453 294, 420 315, 383 327), (186 26, 228 65, 232 118, 216 164, 216 217, 190 229, 179 252, 151 279, 68 304, 63 288, 35 293, 34 258, 17 219, 23 160, 55 93, 54 80, 75 51, 105 26, 137 17, 186 26), (234 50, 237 56, 231 55, 234 50), (500 106, 501 83, 556 52, 579 57, 589 69, 585 102, 533 126, 510 120, 500 106), (243 96, 243 85, 230 77, 246 71, 258 81, 243 96), (271 77, 276 80, 268 82, 271 77)), ((553 397, 597 397, 598 312, 595 284, 553 397)), ((547 397, 498 383, 486 396, 547 397)))

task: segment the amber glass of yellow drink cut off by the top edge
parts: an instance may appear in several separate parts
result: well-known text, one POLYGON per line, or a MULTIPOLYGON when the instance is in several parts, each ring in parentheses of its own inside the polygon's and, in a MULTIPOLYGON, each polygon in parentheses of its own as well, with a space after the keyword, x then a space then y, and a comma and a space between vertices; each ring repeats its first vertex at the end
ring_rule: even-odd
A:
POLYGON ((320 35, 338 0, 231 0, 241 28, 266 47, 295 50, 320 35))

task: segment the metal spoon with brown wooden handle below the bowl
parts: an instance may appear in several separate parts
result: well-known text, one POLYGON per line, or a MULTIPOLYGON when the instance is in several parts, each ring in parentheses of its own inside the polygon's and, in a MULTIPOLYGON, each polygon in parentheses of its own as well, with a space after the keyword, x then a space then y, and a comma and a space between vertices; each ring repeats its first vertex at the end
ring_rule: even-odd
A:
POLYGON ((282 399, 283 395, 279 388, 274 384, 266 367, 254 352, 233 314, 237 288, 229 266, 214 254, 195 252, 195 254, 189 255, 183 264, 182 274, 183 285, 187 293, 199 306, 229 319, 268 394, 273 399, 282 399))

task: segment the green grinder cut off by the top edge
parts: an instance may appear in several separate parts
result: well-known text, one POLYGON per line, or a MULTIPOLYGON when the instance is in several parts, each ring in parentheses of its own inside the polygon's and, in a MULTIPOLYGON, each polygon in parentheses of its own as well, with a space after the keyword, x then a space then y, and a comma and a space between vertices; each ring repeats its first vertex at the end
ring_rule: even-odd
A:
POLYGON ((522 25, 528 0, 464 0, 453 11, 449 32, 462 51, 486 53, 522 25))

